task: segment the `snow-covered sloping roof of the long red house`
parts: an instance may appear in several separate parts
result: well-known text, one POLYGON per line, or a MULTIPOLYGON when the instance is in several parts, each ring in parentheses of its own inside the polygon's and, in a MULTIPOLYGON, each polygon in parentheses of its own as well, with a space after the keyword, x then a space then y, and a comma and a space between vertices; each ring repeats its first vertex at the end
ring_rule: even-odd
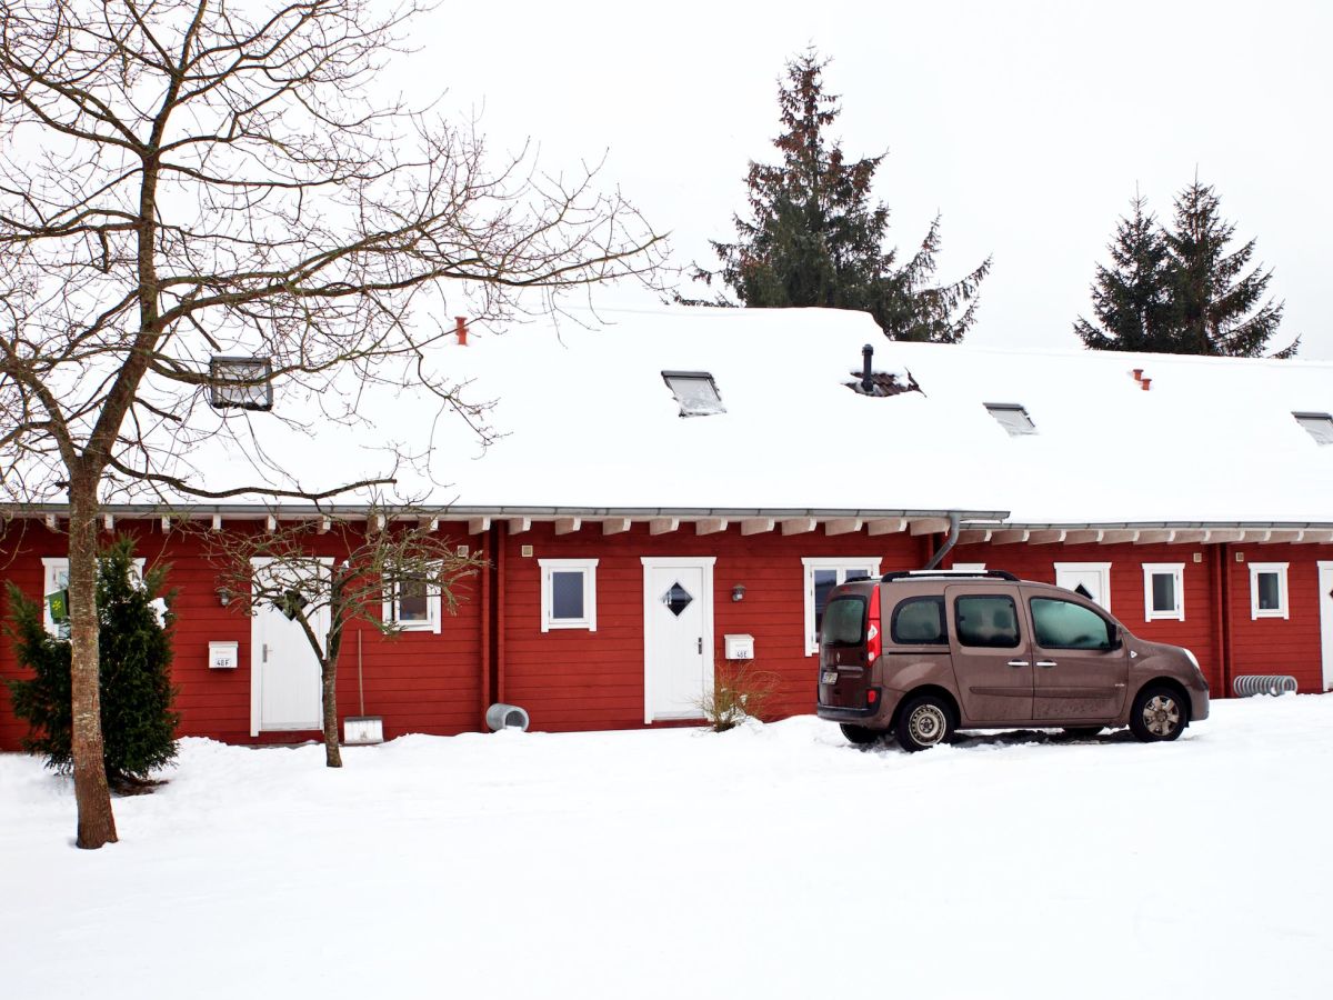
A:
MULTIPOLYGON (((864 313, 701 308, 475 327, 429 361, 493 400, 489 448, 411 384, 364 389, 359 427, 303 419, 317 401, 279 384, 273 413, 245 425, 305 488, 385 471, 393 441, 423 457, 397 468, 397 497, 433 508, 1333 524, 1333 447, 1293 416, 1333 412, 1328 363, 906 344, 864 313), (848 388, 864 344, 920 391, 848 388), (725 412, 682 417, 664 372, 706 372, 725 412), (1012 436, 988 403, 1022 407, 1036 433, 1012 436)), ((252 481, 225 439, 191 464, 211 487, 252 481)))

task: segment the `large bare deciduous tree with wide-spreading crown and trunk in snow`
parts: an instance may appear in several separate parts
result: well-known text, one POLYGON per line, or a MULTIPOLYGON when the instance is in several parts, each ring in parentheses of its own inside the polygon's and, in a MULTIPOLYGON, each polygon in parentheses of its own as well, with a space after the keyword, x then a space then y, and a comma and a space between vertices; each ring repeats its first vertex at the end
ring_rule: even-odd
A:
MULTIPOLYGON (((305 0, 12 0, 0 7, 0 475, 11 503, 68 503, 80 847, 116 840, 97 704, 100 505, 319 500, 393 481, 295 483, 245 409, 213 409, 217 356, 264 359, 241 389, 317 397, 355 421, 367 380, 475 408, 429 364, 415 300, 475 319, 649 276, 659 237, 596 169, 493 168, 475 128, 367 92, 417 13, 305 0), (463 305, 465 303, 465 305, 463 305), (236 439, 249 481, 192 449, 236 439)), ((237 385, 232 385, 235 392, 237 385)), ((304 415, 303 415, 304 416, 304 415)), ((359 471, 360 472, 360 471, 359 471)))

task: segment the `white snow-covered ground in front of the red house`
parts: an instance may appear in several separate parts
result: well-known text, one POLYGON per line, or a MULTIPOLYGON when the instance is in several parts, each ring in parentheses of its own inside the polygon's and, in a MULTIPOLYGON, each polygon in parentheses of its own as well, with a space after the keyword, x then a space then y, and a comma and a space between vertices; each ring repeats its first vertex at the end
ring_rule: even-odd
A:
POLYGON ((121 843, 0 755, 4 995, 1333 996, 1333 696, 1168 745, 185 740, 121 843))

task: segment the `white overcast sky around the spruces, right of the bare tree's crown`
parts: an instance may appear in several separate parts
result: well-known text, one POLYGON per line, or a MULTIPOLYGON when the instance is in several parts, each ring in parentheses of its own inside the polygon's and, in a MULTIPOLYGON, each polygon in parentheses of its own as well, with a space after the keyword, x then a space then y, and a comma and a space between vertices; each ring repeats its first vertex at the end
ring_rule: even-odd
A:
POLYGON ((1077 347, 1136 184, 1169 216, 1197 167, 1274 269, 1270 347, 1301 333, 1304 357, 1333 359, 1333 4, 513 0, 419 27, 393 83, 447 89, 445 108, 483 111, 493 148, 531 136, 551 169, 607 153, 607 184, 672 232, 680 265, 716 264, 706 240, 733 233, 746 163, 776 159, 782 64, 814 44, 845 152, 889 151, 874 193, 890 240, 910 252, 938 209, 942 279, 994 255, 970 341, 1077 347))

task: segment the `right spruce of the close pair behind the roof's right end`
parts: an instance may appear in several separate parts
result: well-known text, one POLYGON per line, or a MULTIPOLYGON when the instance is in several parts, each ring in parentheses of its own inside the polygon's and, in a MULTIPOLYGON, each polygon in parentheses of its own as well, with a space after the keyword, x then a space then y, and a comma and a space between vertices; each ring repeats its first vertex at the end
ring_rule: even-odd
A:
MULTIPOLYGON (((1218 209, 1213 188, 1197 177, 1176 197, 1174 225, 1165 233, 1174 351, 1257 357, 1277 333, 1282 303, 1268 299, 1260 304, 1273 272, 1256 268, 1244 273, 1254 256, 1254 240, 1228 253, 1236 225, 1218 209)), ((1292 357, 1300 341, 1297 337, 1274 356, 1292 357)))

